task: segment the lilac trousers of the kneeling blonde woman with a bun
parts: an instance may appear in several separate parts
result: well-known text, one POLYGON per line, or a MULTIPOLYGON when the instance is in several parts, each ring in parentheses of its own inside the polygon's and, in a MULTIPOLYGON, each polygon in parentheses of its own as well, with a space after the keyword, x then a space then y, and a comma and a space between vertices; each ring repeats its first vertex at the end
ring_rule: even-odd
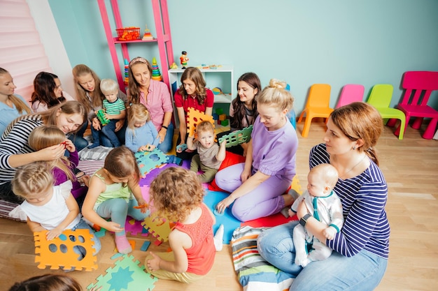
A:
MULTIPOLYGON (((216 174, 216 184, 230 193, 239 188, 244 165, 245 163, 239 163, 220 170, 216 174)), ((282 176, 269 177, 253 191, 234 200, 232 214, 239 221, 251 221, 280 212, 285 206, 281 195, 288 190, 291 183, 292 180, 282 176)))

